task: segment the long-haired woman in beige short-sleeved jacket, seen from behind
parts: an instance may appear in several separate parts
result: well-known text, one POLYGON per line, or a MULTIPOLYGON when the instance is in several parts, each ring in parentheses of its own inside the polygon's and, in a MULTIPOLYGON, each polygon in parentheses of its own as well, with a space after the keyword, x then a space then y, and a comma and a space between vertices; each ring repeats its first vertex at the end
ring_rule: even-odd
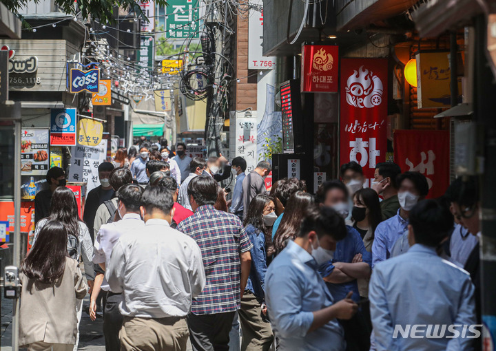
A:
POLYGON ((76 306, 87 286, 79 263, 68 256, 67 245, 66 226, 45 221, 21 262, 19 344, 30 351, 70 351, 76 344, 76 306))

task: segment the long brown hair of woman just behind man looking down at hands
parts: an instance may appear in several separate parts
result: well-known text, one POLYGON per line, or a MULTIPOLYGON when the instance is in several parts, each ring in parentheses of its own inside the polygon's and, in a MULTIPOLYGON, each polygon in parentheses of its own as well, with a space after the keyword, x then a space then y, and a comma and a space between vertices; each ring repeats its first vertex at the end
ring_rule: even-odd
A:
POLYGON ((304 191, 296 191, 291 195, 285 208, 285 215, 282 217, 276 235, 274 235, 273 242, 276 255, 284 250, 289 240, 293 240, 296 237, 307 210, 314 203, 313 196, 304 191))

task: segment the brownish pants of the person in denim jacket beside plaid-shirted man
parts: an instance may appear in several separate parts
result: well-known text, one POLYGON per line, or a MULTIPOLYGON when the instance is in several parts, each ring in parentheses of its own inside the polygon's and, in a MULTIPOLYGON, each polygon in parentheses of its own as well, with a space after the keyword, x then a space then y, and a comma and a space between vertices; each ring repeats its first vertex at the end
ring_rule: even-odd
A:
POLYGON ((255 295, 245 292, 241 299, 240 317, 241 351, 270 350, 273 334, 269 322, 262 319, 262 308, 255 295))

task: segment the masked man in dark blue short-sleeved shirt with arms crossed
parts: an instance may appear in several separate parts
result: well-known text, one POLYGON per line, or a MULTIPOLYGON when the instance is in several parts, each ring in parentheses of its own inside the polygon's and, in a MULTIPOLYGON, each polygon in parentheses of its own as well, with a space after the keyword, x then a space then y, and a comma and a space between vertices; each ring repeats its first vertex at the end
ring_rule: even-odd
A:
MULTIPOLYGON (((320 206, 331 207, 343 220, 348 217, 348 189, 339 180, 329 180, 320 185, 316 201, 320 206)), ((332 259, 321 264, 320 275, 335 299, 344 299, 353 292, 351 299, 360 301, 358 279, 369 279, 372 256, 366 251, 360 233, 352 226, 346 226, 347 235, 336 244, 332 259)), ((369 328, 362 311, 349 321, 340 321, 344 328, 347 350, 369 350, 369 328)))

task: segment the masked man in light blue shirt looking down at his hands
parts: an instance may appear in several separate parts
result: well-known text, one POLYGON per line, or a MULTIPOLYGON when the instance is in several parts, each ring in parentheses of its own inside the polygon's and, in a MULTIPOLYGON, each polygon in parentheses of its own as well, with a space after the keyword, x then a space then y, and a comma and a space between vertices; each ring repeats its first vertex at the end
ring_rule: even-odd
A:
POLYGON ((338 319, 350 319, 358 306, 351 293, 341 301, 331 295, 318 266, 332 259, 346 236, 344 220, 333 209, 309 210, 296 239, 267 268, 265 300, 281 350, 345 350, 338 319))

